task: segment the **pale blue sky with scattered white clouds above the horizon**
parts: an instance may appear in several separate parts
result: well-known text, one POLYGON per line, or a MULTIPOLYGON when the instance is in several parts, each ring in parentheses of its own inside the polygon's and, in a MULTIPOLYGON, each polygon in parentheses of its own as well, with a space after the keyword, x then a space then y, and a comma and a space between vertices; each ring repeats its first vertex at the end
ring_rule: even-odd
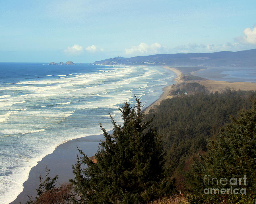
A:
POLYGON ((0 0, 0 62, 256 48, 255 0, 0 0))

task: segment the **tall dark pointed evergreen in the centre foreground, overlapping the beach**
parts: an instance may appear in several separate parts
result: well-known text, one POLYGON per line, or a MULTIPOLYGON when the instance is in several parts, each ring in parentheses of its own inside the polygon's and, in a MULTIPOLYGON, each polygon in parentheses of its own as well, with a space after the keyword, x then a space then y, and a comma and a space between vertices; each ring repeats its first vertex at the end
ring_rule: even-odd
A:
POLYGON ((172 180, 164 180, 164 153, 152 119, 143 122, 141 101, 119 109, 123 125, 113 124, 110 135, 101 126, 104 141, 95 154, 96 163, 82 150, 73 165, 75 179, 70 180, 79 196, 76 203, 144 203, 172 191, 172 180), (85 167, 86 165, 87 167, 85 167))

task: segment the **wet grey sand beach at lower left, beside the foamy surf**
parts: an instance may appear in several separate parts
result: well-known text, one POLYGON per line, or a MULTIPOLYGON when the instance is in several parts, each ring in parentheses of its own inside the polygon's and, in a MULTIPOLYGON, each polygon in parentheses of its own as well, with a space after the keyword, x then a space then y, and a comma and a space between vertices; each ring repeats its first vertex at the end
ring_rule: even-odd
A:
POLYGON ((97 151, 102 135, 91 135, 87 137, 81 137, 78 139, 70 140, 63 143, 54 150, 53 153, 45 156, 36 166, 34 166, 30 173, 28 180, 24 182, 24 190, 18 195, 15 201, 11 204, 22 204, 28 201, 29 196, 36 196, 36 188, 39 186, 39 175, 45 177, 45 167, 50 169, 50 176, 59 176, 57 184, 68 182, 69 179, 73 179, 72 164, 75 164, 77 158, 78 146, 87 156, 94 156, 94 152, 97 151))

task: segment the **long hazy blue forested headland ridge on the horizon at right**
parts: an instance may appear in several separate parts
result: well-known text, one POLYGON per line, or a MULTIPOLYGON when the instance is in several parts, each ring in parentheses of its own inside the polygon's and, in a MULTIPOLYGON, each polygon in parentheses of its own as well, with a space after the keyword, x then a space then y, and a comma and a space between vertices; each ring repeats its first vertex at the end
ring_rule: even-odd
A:
POLYGON ((255 67, 256 49, 238 52, 188 53, 188 54, 156 54, 131 58, 115 57, 95 61, 104 65, 169 65, 169 66, 232 66, 255 67))

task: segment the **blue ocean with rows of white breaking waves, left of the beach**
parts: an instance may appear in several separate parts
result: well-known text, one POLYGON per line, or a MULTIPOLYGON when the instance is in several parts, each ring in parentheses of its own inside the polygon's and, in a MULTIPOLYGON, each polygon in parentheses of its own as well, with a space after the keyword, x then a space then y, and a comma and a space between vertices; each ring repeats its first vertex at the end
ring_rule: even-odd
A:
POLYGON ((175 74, 157 66, 0 63, 0 203, 59 144, 112 128, 123 102, 153 103, 175 74))

